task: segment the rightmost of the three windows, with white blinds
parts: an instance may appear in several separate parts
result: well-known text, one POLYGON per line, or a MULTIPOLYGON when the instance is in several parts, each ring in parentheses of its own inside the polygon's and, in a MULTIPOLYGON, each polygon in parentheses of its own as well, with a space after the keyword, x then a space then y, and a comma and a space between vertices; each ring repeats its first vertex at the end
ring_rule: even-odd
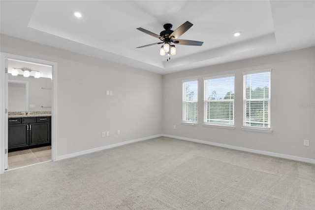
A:
POLYGON ((243 74, 243 126, 270 129, 271 70, 243 74))

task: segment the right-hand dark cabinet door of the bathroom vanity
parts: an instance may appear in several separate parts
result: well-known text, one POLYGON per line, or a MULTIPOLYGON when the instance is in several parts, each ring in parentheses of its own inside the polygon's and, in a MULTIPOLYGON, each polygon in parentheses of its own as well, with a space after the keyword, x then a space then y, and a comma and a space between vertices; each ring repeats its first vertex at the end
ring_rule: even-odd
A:
POLYGON ((30 146, 50 142, 50 123, 30 123, 30 146))

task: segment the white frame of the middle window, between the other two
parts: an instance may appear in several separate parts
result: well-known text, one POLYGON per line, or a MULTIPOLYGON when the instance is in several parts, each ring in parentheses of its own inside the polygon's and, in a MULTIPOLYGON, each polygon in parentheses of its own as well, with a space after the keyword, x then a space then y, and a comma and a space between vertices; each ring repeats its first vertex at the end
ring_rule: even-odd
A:
MULTIPOLYGON (((216 128, 230 128, 230 129, 235 129, 235 118, 234 118, 234 110, 235 110, 235 101, 234 99, 222 99, 222 100, 208 100, 207 99, 207 81, 211 80, 211 79, 220 79, 220 78, 229 78, 229 77, 233 77, 233 94, 234 94, 234 99, 235 99, 235 74, 225 74, 225 75, 218 75, 218 76, 211 76, 211 77, 204 77, 203 78, 203 88, 204 88, 204 113, 203 113, 203 125, 206 127, 216 127, 216 128), (233 106, 232 106, 232 124, 223 124, 223 123, 209 123, 208 122, 208 102, 232 102, 233 106)), ((230 90, 231 91, 231 90, 230 90)), ((228 112, 229 116, 230 116, 230 111, 228 112)))

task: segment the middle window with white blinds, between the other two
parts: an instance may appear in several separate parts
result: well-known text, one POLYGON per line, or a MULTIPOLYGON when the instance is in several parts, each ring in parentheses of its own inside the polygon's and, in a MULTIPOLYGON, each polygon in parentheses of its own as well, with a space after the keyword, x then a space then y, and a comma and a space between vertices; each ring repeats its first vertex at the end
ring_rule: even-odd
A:
POLYGON ((204 78, 204 123, 234 125, 234 74, 204 78))

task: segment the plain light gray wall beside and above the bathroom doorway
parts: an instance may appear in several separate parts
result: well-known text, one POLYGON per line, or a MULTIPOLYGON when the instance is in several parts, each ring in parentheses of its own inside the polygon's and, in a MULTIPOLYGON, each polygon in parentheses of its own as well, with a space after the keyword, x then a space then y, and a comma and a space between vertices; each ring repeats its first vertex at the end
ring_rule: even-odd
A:
POLYGON ((58 63, 57 156, 162 133, 161 75, 7 35, 0 38, 1 52, 58 63), (110 136, 101 137, 102 131, 110 136))

